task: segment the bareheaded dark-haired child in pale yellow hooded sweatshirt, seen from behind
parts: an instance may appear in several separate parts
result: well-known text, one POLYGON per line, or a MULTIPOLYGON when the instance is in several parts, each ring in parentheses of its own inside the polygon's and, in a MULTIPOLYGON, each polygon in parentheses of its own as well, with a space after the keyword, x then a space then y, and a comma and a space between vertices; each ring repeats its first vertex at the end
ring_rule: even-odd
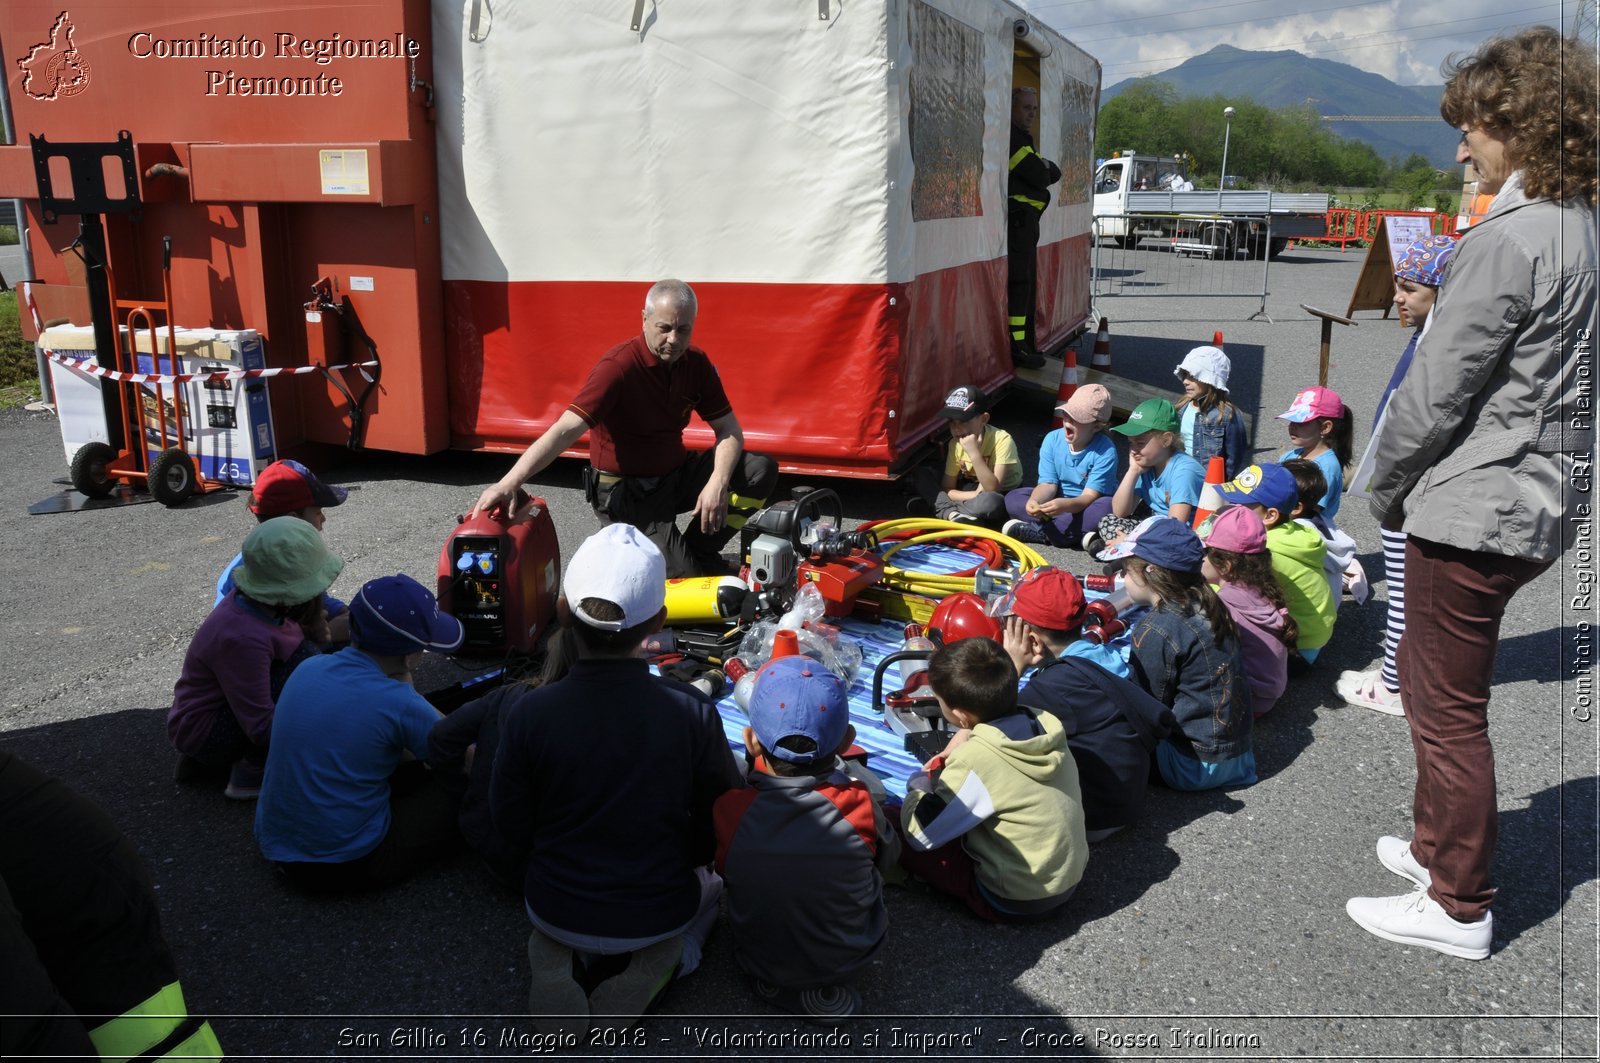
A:
POLYGON ((936 652, 928 682, 960 730, 906 783, 901 864, 990 922, 1053 916, 1088 863, 1061 720, 1018 706, 1016 668, 992 639, 936 652))

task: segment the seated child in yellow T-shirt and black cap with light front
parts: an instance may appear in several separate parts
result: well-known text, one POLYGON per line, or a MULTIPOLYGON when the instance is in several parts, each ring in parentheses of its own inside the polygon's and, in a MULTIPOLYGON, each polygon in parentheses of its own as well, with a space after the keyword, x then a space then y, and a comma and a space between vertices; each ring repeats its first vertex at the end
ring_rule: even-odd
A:
POLYGON ((950 423, 944 475, 922 466, 914 474, 923 506, 931 504, 941 520, 981 523, 998 528, 1005 520, 1005 495, 1022 482, 1016 440, 1003 427, 989 424, 989 392, 963 384, 944 397, 939 416, 950 423))

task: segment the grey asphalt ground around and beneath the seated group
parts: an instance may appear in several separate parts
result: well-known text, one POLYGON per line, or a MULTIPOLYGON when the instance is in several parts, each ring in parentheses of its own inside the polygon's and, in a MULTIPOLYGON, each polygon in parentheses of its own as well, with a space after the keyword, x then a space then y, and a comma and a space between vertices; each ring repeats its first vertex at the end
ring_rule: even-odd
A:
MULTIPOLYGON (((1357 251, 1291 250, 1272 264, 1272 323, 1245 320, 1251 299, 1104 299, 1115 371, 1176 387, 1182 352, 1221 328, 1234 395, 1261 415, 1256 443, 1275 458, 1286 435, 1270 418, 1317 373, 1318 327, 1298 304, 1342 311, 1358 263, 1357 251)), ((1334 336, 1331 384, 1357 410, 1360 451, 1405 333, 1374 312, 1358 320, 1334 336)), ((595 351, 629 325, 597 336, 595 351)), ((1080 357, 1088 362, 1088 338, 1080 357)), ((1029 459, 1050 405, 1016 391, 997 411, 1029 459)), ((54 418, 0 411, 0 746, 93 797, 139 847, 190 1009, 213 1017, 229 1053, 538 1053, 518 1018, 526 917, 472 860, 376 897, 309 900, 259 856, 248 805, 171 781, 165 711, 216 575, 253 523, 243 498, 29 515, 67 471, 54 418)), ((325 466, 331 482, 358 488, 326 525, 347 562, 334 591, 347 597, 394 572, 427 581, 454 515, 507 461, 360 455, 325 466)), ((536 485, 566 556, 592 532, 578 487, 571 461, 536 485)), ((853 519, 899 512, 893 487, 834 487, 853 519)), ((1347 503, 1341 522, 1381 597, 1376 523, 1360 503, 1347 503)), ((1346 605, 1315 671, 1258 724, 1261 781, 1222 794, 1154 791, 1144 821, 1093 852, 1064 917, 992 927, 923 889, 893 889, 893 929, 859 983, 864 1015, 838 1031, 752 997, 723 925, 658 1015, 565 1052, 1595 1058, 1597 724, 1584 709, 1592 687, 1574 674, 1592 666, 1586 632, 1597 618, 1573 605, 1594 572, 1589 549, 1528 586, 1504 620, 1491 711, 1501 895, 1485 962, 1379 941, 1344 914, 1352 895, 1405 885, 1373 855, 1381 834, 1410 829, 1405 720, 1347 708, 1333 690, 1341 669, 1378 660, 1374 602, 1346 605)), ((1083 567, 1082 554, 1050 552, 1083 567)), ((419 680, 462 674, 432 661, 419 680)))

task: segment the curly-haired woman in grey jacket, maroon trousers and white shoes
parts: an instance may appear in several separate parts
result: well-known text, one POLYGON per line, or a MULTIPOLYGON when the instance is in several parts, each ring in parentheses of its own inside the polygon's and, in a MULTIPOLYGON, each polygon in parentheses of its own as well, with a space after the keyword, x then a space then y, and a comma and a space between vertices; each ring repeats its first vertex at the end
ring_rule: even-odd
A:
POLYGON ((1379 839, 1378 860, 1416 892, 1346 911, 1389 941, 1483 959, 1494 645, 1510 597, 1568 544, 1594 450, 1594 59, 1549 27, 1490 40, 1454 64, 1440 114, 1496 195, 1390 399, 1371 482, 1373 514, 1410 536, 1400 696, 1418 772, 1414 834, 1379 839))

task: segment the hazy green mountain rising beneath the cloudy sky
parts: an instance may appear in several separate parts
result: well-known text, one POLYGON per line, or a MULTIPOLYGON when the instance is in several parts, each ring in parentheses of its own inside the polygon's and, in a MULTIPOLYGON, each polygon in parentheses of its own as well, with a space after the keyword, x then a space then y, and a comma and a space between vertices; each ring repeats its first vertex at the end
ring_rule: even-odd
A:
POLYGON ((1459 133, 1438 117, 1443 85, 1395 85, 1381 74, 1298 51, 1218 45, 1171 70, 1117 82, 1101 94, 1101 102, 1139 82, 1166 82, 1179 96, 1243 96, 1264 107, 1309 102, 1325 115, 1430 115, 1422 122, 1330 122, 1328 128, 1371 144, 1384 158, 1403 160, 1418 152, 1443 170, 1456 166, 1459 133))

